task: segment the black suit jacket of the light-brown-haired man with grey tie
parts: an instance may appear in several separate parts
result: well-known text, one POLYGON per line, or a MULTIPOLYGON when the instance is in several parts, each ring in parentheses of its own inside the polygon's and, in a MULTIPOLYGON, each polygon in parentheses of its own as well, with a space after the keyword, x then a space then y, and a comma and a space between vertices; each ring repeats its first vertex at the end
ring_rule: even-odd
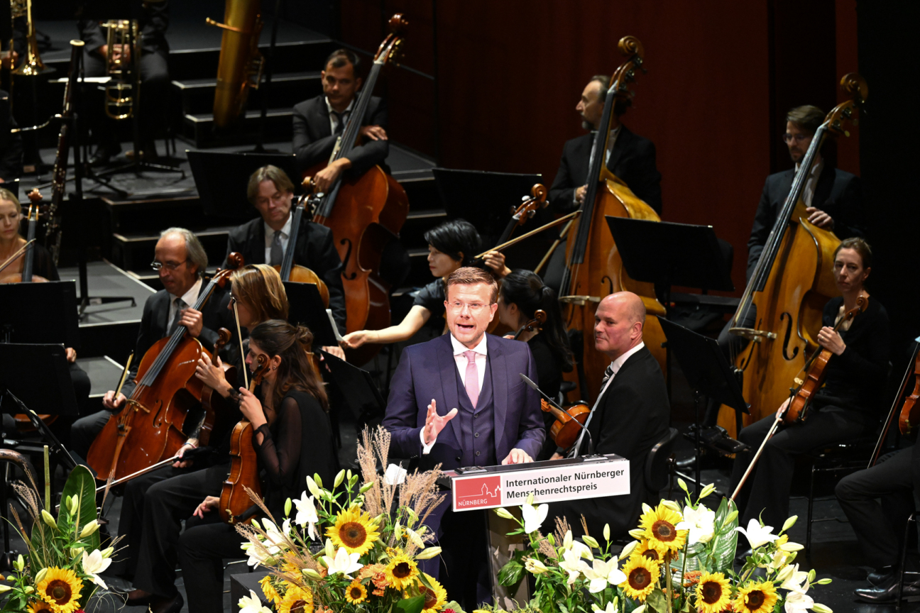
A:
MULTIPOLYGON (((247 221, 230 231, 227 255, 234 251, 243 254, 243 261, 247 264, 266 263, 265 223, 261 217, 247 221)), ((293 252, 293 263, 309 268, 326 282, 329 290, 329 308, 332 309, 332 316, 339 326, 339 331, 344 331, 347 313, 345 289, 342 287, 342 261, 332 243, 332 231, 302 217, 293 252)), ((224 267, 226 265, 224 257, 224 267)))

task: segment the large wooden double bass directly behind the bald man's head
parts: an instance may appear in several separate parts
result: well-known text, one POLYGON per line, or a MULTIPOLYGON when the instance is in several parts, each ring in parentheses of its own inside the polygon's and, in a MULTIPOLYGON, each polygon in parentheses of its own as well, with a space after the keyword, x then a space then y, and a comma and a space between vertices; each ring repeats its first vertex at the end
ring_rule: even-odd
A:
POLYGON ((623 259, 616 249, 614 238, 607 229, 605 216, 661 221, 651 207, 638 199, 627 185, 610 172, 604 164, 604 152, 610 137, 610 123, 615 100, 628 96, 627 84, 635 79, 637 70, 643 68, 645 54, 642 43, 632 36, 620 39, 619 50, 628 57, 610 80, 604 100, 604 114, 594 137, 591 163, 588 167, 588 188, 581 205, 581 218, 569 230, 566 269, 559 287, 559 301, 569 334, 573 335, 577 371, 575 377, 582 400, 590 401, 592 390, 601 389, 604 369, 610 360, 594 348, 592 342, 594 312, 597 303, 617 291, 632 291, 642 299, 648 317, 642 328, 642 338, 652 356, 666 373, 665 350, 661 343, 664 332, 658 317, 665 314, 664 307, 655 297, 651 283, 640 283, 629 278, 623 259), (581 336, 581 342, 578 337, 581 336), (581 349, 577 347, 581 345, 581 349))

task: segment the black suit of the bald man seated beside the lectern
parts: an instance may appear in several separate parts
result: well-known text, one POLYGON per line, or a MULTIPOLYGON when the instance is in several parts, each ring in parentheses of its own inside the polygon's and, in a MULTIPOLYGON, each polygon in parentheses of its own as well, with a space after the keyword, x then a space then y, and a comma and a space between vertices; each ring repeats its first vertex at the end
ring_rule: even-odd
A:
MULTIPOLYGON (((604 524, 610 524, 611 539, 636 528, 642 503, 658 494, 646 490, 645 461, 667 434, 670 417, 661 367, 648 347, 642 347, 617 371, 588 425, 594 453, 615 453, 629 460, 629 494, 554 503, 547 517, 567 515, 569 523, 578 526, 577 518, 584 515, 595 539, 604 534, 604 524)), ((587 452, 584 437, 581 454, 587 452)))

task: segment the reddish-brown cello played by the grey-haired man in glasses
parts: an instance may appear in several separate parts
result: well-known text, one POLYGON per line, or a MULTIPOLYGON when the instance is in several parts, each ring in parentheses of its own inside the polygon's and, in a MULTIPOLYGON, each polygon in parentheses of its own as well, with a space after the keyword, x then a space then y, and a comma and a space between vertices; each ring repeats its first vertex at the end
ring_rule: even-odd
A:
MULTIPOLYGON (((218 270, 192 306, 201 311, 214 289, 224 287, 243 256, 228 256, 229 267, 218 270)), ((176 455, 185 444, 185 417, 201 403, 205 386, 195 376, 202 354, 209 351, 179 325, 172 335, 158 340, 141 358, 137 386, 121 411, 109 417, 86 454, 87 465, 101 479, 121 479, 176 455)))

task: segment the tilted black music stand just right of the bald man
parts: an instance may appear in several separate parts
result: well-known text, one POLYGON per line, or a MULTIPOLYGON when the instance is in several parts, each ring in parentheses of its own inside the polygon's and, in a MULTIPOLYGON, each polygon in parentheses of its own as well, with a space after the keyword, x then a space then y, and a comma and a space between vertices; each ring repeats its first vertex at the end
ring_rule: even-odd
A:
POLYGON ((732 371, 729 360, 714 338, 696 334, 666 319, 661 320, 661 329, 668 339, 668 353, 673 350, 684 370, 684 376, 694 391, 696 406, 696 494, 699 494, 700 453, 700 404, 703 396, 720 404, 727 404, 735 410, 738 432, 742 429, 742 413, 750 414, 751 406, 744 400, 741 385, 732 371))

